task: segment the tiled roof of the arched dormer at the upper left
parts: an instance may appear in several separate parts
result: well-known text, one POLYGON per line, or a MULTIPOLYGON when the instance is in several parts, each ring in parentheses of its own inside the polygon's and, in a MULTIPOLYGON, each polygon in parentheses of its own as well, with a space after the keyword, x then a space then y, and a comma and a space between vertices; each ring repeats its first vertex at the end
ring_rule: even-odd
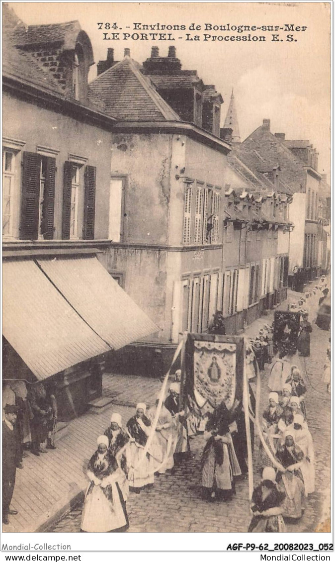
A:
MULTIPOLYGON (((63 24, 29 25, 27 28, 17 28, 13 37, 19 47, 55 42, 72 43, 80 30, 78 21, 67 21, 63 24)), ((67 44, 67 47, 70 48, 70 45, 67 44)))

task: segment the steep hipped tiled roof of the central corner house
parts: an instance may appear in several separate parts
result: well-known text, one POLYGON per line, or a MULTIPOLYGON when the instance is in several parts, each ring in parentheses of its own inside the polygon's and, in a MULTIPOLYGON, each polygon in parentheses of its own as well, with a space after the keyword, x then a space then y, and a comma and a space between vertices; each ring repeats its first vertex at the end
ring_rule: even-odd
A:
POLYGON ((89 84, 89 98, 102 99, 108 115, 125 121, 180 121, 138 67, 126 56, 89 84))

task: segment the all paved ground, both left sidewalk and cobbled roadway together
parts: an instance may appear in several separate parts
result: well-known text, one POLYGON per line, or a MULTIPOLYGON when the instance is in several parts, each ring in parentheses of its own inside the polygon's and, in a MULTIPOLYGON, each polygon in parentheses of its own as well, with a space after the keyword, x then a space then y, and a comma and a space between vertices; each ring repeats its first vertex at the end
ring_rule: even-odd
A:
MULTIPOLYGON (((296 297, 295 297, 296 298, 296 297)), ((289 300, 291 300, 289 298, 289 300)), ((246 329, 247 336, 255 336, 262 324, 273 320, 273 312, 256 320, 246 329)), ((309 496, 302 519, 288 524, 288 532, 326 531, 329 518, 331 480, 331 398, 322 382, 325 351, 330 332, 313 324, 311 357, 306 366, 306 409, 309 428, 314 439, 316 492, 309 496), (313 385, 313 387, 311 386, 313 385), (324 527, 320 525, 325 522, 324 527)), ((267 373, 262 377, 261 411, 266 405, 267 373)), ((104 395, 115 397, 114 405, 102 414, 87 413, 69 424, 69 432, 58 442, 55 451, 24 459, 24 468, 17 470, 13 509, 6 532, 78 532, 81 507, 77 506, 87 487, 85 468, 96 450, 96 437, 109 425, 110 414, 116 411, 124 423, 134 414, 134 405, 147 401, 152 405, 161 383, 143 377, 106 374, 103 377, 104 395), (60 520, 59 520, 60 519, 60 520), (59 520, 58 523, 55 521, 59 520)), ((248 481, 236 483, 236 496, 231 502, 208 503, 201 499, 202 436, 191 440, 192 459, 175 469, 172 475, 155 478, 155 487, 140 495, 130 493, 127 501, 129 532, 246 532, 251 515, 248 505, 248 481), (232 516, 233 513, 233 516, 232 516)), ((255 484, 257 472, 257 439, 255 443, 255 484)))

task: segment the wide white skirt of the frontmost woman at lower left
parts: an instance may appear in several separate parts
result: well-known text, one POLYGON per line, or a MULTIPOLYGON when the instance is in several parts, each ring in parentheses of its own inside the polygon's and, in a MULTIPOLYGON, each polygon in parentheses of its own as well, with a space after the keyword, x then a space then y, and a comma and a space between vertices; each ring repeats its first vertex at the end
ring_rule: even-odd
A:
POLYGON ((82 515, 82 531, 108 533, 129 527, 125 501, 119 483, 112 483, 112 499, 109 500, 101 486, 88 488, 82 515))

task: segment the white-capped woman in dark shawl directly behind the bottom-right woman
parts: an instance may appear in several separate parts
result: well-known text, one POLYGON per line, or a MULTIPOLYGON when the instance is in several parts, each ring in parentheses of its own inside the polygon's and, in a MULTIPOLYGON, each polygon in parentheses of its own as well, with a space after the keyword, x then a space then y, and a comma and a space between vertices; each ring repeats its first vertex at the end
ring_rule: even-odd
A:
POLYGON ((294 434, 294 430, 287 430, 284 433, 282 445, 278 446, 276 457, 283 466, 283 470, 278 470, 277 482, 279 490, 285 492, 286 495, 283 516, 300 519, 306 505, 304 478, 301 472, 304 453, 295 444, 294 434))

